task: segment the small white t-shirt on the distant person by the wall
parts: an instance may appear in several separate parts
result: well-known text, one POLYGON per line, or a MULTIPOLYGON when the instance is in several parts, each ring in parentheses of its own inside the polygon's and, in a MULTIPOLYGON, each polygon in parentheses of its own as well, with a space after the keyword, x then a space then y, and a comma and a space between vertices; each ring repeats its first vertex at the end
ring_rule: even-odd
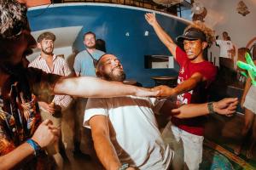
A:
POLYGON ((219 45, 219 48, 220 48, 219 57, 231 59, 231 53, 229 52, 229 50, 233 48, 232 42, 224 41, 224 40, 216 40, 216 43, 219 45))

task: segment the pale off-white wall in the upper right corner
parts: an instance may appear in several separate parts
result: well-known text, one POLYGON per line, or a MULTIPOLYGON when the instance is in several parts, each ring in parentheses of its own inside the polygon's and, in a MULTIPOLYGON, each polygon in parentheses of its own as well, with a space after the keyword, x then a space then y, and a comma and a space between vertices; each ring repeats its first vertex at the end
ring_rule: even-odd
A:
MULTIPOLYGON (((256 0, 243 0, 251 12, 242 16, 236 12, 240 0, 199 0, 207 8, 206 24, 222 37, 227 31, 237 48, 245 47, 253 37, 256 37, 256 0)), ((212 56, 218 56, 219 48, 214 44, 210 49, 212 56)))

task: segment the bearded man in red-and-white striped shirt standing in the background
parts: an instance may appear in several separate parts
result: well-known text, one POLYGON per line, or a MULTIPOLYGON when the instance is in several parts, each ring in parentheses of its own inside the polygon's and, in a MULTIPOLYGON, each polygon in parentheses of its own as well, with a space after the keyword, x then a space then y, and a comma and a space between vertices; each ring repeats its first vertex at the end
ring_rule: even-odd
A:
MULTIPOLYGON (((54 42, 55 35, 52 32, 46 31, 38 37, 38 48, 41 49, 40 55, 32 61, 28 66, 41 69, 47 73, 60 76, 70 76, 72 71, 69 69, 67 62, 59 55, 55 55, 54 42)), ((67 106, 72 102, 72 97, 69 95, 54 95, 49 101, 38 101, 40 114, 43 120, 49 119, 55 127, 61 128, 62 111, 67 109, 67 106)), ((69 163, 65 147, 62 139, 48 148, 48 154, 53 155, 59 169, 63 168, 63 161, 69 163)))

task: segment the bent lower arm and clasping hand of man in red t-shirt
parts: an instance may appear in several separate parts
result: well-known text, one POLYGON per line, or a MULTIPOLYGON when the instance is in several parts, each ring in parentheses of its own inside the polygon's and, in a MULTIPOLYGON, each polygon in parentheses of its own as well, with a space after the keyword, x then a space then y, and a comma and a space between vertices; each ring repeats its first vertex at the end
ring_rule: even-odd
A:
POLYGON ((160 90, 160 97, 171 97, 178 94, 183 94, 189 90, 195 88, 195 86, 204 81, 204 77, 199 72, 195 72, 188 80, 185 80, 181 84, 178 84, 176 88, 169 88, 167 86, 155 87, 155 90, 160 90))

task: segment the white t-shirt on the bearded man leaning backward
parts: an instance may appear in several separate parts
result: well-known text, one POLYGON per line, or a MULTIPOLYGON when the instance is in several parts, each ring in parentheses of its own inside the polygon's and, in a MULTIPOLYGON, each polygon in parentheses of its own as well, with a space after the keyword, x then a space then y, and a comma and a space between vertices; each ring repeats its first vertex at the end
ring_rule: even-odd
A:
POLYGON ((163 103, 135 96, 88 99, 84 127, 89 127, 92 116, 108 116, 110 138, 119 161, 144 170, 165 170, 173 153, 161 138, 154 117, 163 103))

